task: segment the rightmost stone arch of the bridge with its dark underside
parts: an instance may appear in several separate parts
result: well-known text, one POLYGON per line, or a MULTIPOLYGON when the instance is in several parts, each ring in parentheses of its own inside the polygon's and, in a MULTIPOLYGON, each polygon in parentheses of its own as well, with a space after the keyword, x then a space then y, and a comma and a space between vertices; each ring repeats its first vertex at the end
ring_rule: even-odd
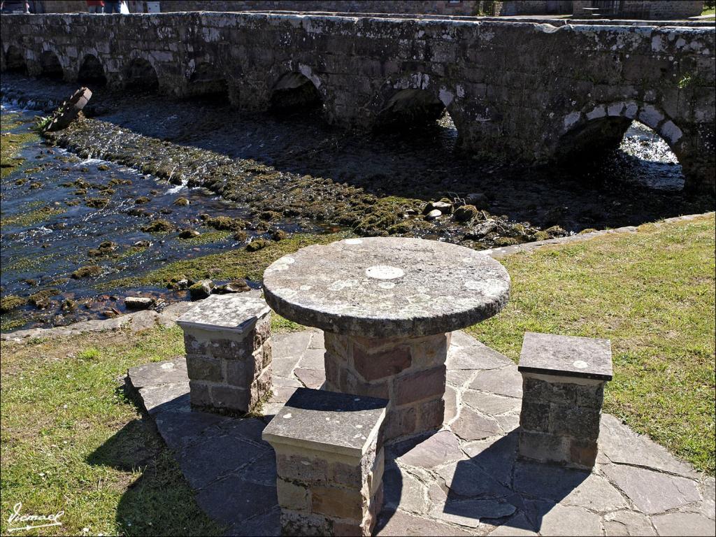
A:
POLYGON ((679 163, 687 167, 686 133, 660 107, 637 100, 589 106, 563 117, 556 160, 617 149, 632 121, 646 125, 662 137, 679 163))

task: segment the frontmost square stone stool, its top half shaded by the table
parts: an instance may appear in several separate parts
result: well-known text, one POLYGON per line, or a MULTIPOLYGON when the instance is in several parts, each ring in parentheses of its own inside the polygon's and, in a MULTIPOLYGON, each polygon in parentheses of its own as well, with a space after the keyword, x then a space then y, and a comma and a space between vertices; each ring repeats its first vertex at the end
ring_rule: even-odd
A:
POLYGON ((263 430, 284 535, 371 534, 383 501, 388 401, 299 388, 263 430))

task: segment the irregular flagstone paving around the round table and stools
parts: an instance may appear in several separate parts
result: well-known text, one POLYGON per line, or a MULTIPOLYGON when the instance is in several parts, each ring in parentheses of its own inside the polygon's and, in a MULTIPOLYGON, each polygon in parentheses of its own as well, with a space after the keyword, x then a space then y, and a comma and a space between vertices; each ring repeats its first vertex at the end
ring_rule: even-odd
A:
MULTIPOLYGON (((316 387, 322 378, 321 332, 272 339, 274 397, 262 417, 190 410, 183 357, 132 368, 127 377, 198 504, 227 535, 279 535, 274 451, 261 432, 297 387, 316 387)), ((375 533, 715 535, 714 478, 611 415, 602 417, 591 473, 517 460, 520 398, 516 365, 455 332, 446 395, 453 410, 439 432, 387 446, 375 533)))

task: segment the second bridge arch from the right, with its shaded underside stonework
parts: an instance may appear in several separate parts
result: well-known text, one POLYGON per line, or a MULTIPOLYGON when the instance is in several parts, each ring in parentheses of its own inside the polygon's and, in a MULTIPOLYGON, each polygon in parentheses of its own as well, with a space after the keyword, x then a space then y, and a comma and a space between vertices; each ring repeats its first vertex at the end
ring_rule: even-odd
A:
POLYGON ((376 111, 374 129, 422 128, 435 125, 444 114, 448 114, 459 137, 462 116, 454 106, 454 99, 453 92, 426 74, 394 77, 383 84, 372 105, 376 111))

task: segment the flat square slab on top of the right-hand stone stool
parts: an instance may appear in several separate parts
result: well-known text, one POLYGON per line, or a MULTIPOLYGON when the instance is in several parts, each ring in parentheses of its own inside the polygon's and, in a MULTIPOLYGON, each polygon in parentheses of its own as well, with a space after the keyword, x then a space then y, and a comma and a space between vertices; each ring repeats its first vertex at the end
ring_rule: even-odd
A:
POLYGON ((526 332, 520 364, 525 373, 611 380, 609 339, 526 332))

